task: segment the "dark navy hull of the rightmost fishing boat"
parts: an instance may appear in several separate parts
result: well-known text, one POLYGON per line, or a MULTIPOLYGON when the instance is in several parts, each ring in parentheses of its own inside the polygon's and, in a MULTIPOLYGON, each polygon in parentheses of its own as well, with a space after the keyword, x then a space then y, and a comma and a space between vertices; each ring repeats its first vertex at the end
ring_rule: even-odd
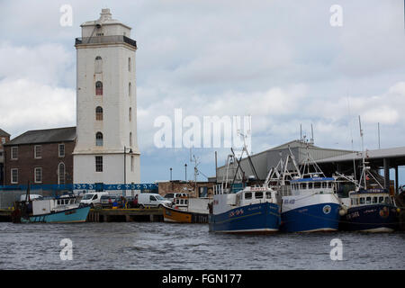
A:
POLYGON ((392 232, 398 222, 396 208, 387 204, 349 208, 340 220, 340 229, 363 232, 392 232))

